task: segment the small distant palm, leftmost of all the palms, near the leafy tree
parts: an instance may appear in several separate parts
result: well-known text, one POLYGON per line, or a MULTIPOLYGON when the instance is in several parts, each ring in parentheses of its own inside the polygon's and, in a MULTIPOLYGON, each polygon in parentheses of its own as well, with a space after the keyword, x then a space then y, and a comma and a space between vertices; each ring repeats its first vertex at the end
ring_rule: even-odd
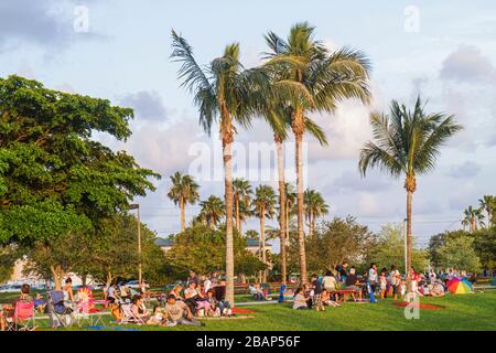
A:
POLYGON ((198 201, 198 184, 191 175, 183 175, 180 172, 175 172, 171 175, 172 186, 168 193, 174 204, 179 204, 181 210, 181 232, 186 227, 185 205, 195 204, 198 201))

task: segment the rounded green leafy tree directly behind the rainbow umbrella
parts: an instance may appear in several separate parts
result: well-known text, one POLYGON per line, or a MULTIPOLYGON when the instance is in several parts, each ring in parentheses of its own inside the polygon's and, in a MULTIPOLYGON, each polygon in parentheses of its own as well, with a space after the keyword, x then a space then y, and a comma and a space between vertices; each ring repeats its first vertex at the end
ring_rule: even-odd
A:
POLYGON ((440 266, 456 268, 459 270, 478 271, 481 260, 473 247, 471 236, 449 237, 443 247, 439 249, 440 266))

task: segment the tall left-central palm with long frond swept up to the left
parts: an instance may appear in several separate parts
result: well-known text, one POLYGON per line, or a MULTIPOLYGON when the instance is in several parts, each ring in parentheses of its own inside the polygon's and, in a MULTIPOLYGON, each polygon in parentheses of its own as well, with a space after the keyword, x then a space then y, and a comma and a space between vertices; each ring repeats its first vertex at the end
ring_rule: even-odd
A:
POLYGON ((179 78, 194 96, 200 111, 200 124, 211 133, 218 122, 223 146, 226 203, 226 300, 234 303, 234 244, 233 244, 233 164, 231 143, 235 124, 248 127, 251 117, 251 90, 259 77, 258 69, 245 69, 239 62, 239 44, 227 45, 224 54, 207 66, 197 64, 192 46, 172 30, 171 58, 181 63, 179 78))

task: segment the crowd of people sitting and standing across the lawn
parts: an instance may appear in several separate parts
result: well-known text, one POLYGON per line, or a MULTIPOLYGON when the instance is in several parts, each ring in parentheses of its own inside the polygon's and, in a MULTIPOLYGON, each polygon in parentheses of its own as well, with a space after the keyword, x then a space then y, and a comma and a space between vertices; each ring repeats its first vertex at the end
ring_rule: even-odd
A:
MULTIPOLYGON (((407 296, 432 296, 442 297, 445 292, 445 284, 452 278, 467 277, 464 271, 450 268, 445 271, 417 272, 411 269, 411 290, 407 289, 406 276, 392 265, 389 269, 377 269, 376 264, 363 275, 347 263, 326 270, 322 276, 312 275, 309 282, 299 286, 294 292, 292 308, 295 310, 317 311, 325 307, 339 307, 351 296, 354 301, 363 301, 364 297, 392 298, 393 300, 409 300, 407 296)), ((72 279, 68 277, 62 288, 64 301, 73 303, 73 310, 77 310, 80 302, 79 293, 74 295, 72 279)), ((256 300, 267 300, 267 287, 259 282, 249 287, 250 293, 256 300)), ((281 292, 282 295, 282 292, 281 292)), ((150 311, 150 296, 144 285, 140 285, 139 291, 127 288, 126 285, 112 284, 104 290, 106 308, 110 307, 111 314, 117 319, 122 318, 122 304, 130 306, 132 319, 140 323, 153 325, 202 325, 197 320, 202 317, 230 317, 233 314, 231 303, 226 300, 226 281, 218 274, 197 276, 190 271, 185 284, 177 282, 168 292, 161 292, 154 298, 157 303, 150 311)), ((41 293, 31 297, 31 287, 21 286, 19 301, 33 302, 34 309, 40 313, 47 312, 47 301, 41 293)), ((6 330, 12 312, 3 310, 0 306, 0 330, 6 330)))

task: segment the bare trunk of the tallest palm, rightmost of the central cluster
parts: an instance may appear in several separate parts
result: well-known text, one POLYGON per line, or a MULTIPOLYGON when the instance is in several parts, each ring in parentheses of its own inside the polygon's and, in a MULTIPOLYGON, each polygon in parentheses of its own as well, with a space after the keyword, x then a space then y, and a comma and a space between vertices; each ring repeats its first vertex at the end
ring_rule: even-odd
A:
POLYGON ((296 133, 296 204, 298 204, 298 246, 300 257, 300 280, 306 282, 306 254, 305 254, 305 235, 303 233, 303 160, 302 160, 302 142, 303 133, 296 133))

